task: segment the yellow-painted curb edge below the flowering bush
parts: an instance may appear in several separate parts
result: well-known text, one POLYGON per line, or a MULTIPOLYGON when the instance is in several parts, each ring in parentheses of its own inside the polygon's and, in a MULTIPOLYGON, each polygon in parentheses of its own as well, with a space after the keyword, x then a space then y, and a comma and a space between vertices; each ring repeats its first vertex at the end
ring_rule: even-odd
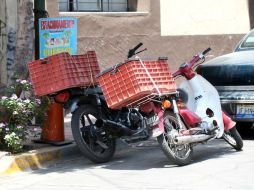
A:
POLYGON ((5 155, 0 158, 0 176, 10 175, 25 170, 35 170, 47 163, 57 162, 79 154, 75 143, 61 147, 45 147, 18 155, 5 155))

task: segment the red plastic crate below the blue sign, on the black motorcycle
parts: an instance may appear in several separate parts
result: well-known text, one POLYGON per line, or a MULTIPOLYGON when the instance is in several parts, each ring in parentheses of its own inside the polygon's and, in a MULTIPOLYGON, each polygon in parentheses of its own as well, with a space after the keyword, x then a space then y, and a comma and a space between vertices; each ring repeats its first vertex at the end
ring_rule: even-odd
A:
POLYGON ((94 51, 74 56, 59 53, 28 63, 28 70, 37 96, 96 85, 95 76, 100 72, 94 51))

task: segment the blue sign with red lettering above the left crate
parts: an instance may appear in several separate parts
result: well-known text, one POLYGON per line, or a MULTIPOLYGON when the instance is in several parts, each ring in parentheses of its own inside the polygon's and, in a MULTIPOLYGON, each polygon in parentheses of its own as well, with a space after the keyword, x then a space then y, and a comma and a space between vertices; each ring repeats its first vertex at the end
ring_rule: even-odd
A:
POLYGON ((77 52, 77 19, 68 17, 39 20, 40 58, 61 52, 77 52))

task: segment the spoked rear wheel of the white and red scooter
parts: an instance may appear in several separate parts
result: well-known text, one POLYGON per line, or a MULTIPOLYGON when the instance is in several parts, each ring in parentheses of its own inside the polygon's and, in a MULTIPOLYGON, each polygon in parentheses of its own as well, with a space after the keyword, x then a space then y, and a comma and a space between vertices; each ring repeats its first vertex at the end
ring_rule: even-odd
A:
MULTIPOLYGON (((184 124, 182 123, 182 126, 184 124)), ((175 114, 165 112, 164 114, 164 133, 157 137, 159 145, 164 154, 179 166, 187 165, 191 162, 192 147, 190 144, 177 145, 174 143, 174 137, 178 135, 179 123, 175 114)), ((186 129, 186 128, 184 128, 186 129)))

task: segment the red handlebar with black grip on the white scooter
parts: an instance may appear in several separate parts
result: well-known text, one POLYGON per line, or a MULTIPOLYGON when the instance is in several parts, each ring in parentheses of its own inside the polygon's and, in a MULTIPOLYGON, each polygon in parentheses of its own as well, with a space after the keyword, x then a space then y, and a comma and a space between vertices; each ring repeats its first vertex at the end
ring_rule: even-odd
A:
POLYGON ((194 67, 194 65, 201 59, 205 58, 205 55, 211 50, 212 49, 209 47, 205 49, 202 53, 195 55, 189 62, 182 64, 180 68, 173 73, 173 77, 177 77, 178 75, 182 75, 184 72, 187 73, 188 71, 190 71, 194 67))

